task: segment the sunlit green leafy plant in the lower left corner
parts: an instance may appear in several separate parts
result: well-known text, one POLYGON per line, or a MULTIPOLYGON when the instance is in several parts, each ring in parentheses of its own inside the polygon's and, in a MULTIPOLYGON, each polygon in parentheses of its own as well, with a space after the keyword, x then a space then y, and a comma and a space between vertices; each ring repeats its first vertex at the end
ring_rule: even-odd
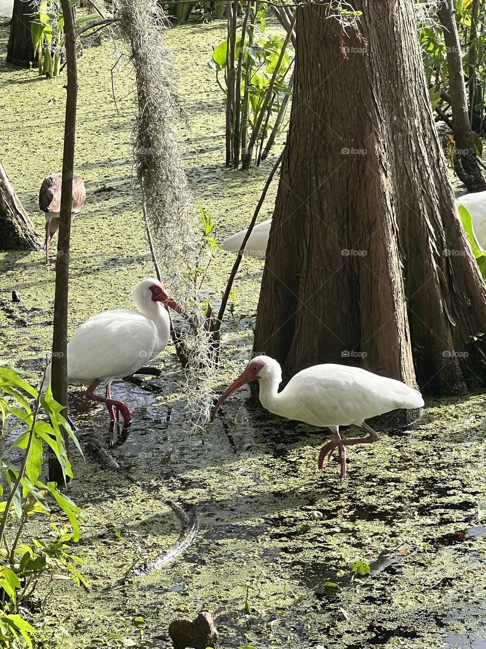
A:
POLYGON ((27 373, 0 365, 0 423, 5 445, 0 456, 0 496, 6 495, 0 502, 0 641, 12 649, 32 646, 37 631, 18 614, 18 607, 34 592, 43 574, 53 578, 64 575, 76 585, 87 586, 76 568, 81 559, 69 552, 69 543, 79 539, 79 520, 86 517, 55 482, 45 484, 40 479, 45 448, 56 454, 64 479, 73 475, 64 430, 81 449, 62 415, 62 406, 52 398, 51 388, 41 395, 27 378, 27 373), (41 413, 49 416, 49 422, 39 419, 41 413), (21 459, 15 465, 12 459, 19 451, 21 459), (5 485, 8 490, 4 493, 5 485), (49 515, 52 504, 67 516, 71 531, 51 524, 51 539, 24 541, 30 517, 49 515))

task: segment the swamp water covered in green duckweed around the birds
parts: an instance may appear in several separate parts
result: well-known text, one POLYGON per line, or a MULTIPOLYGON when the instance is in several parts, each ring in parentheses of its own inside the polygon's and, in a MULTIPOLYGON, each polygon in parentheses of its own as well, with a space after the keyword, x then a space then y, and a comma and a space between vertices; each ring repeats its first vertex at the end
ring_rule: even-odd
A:
MULTIPOLYGON (((37 193, 41 178, 60 169, 65 80, 6 66, 5 29, 0 36, 0 160, 41 232, 37 193)), ((187 114, 178 125, 183 164, 220 239, 248 223, 281 145, 260 168, 224 169, 224 106, 206 65, 223 38, 217 21, 167 34, 187 114)), ((76 173, 87 203, 73 226, 71 333, 93 313, 130 306, 133 285, 154 274, 133 199, 132 69, 126 58, 115 67, 118 114, 115 60, 106 43, 79 62, 76 173)), ((271 215, 274 193, 275 186, 261 219, 271 215)), ((206 290, 214 301, 232 262, 220 252, 211 266, 206 290)), ((50 347, 54 267, 41 252, 2 253, 0 271, 1 356, 38 369, 50 347), (20 304, 10 302, 12 289, 20 304)), ((222 385, 249 358, 261 271, 262 262, 243 260, 222 385)), ((191 434, 172 347, 157 365, 156 391, 113 386, 132 410, 125 434, 81 389, 71 391, 86 460, 73 457, 68 492, 89 514, 75 548, 89 591, 54 581, 44 622, 32 618, 45 633, 62 626, 66 648, 169 647, 168 624, 203 609, 213 613, 223 647, 486 647, 483 394, 428 402, 414 430, 353 448, 341 482, 336 459, 322 472, 316 466, 327 432, 273 417, 245 391, 205 434, 191 434), (93 447, 114 461, 97 459, 93 447), (133 577, 141 557, 178 542, 184 517, 174 504, 198 519, 192 545, 133 577), (353 573, 357 561, 370 573, 353 573)), ((47 522, 34 528, 46 533, 47 522)))

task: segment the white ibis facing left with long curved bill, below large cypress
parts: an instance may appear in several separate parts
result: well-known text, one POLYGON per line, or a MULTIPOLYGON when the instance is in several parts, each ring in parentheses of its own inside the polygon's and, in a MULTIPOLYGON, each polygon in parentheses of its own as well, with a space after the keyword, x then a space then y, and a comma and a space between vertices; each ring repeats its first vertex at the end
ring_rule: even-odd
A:
POLYGON ((213 411, 213 418, 222 402, 238 387, 250 381, 260 382, 260 403, 274 415, 296 419, 311 426, 330 428, 332 439, 321 448, 318 466, 323 465, 338 448, 341 460, 341 478, 346 475, 346 447, 369 444, 378 434, 365 423, 399 408, 421 408, 424 400, 419 391, 393 378, 378 376, 360 367, 348 365, 313 365, 295 374, 281 392, 279 363, 269 356, 255 356, 245 371, 221 395, 213 411), (342 439, 339 426, 360 426, 367 437, 342 439))

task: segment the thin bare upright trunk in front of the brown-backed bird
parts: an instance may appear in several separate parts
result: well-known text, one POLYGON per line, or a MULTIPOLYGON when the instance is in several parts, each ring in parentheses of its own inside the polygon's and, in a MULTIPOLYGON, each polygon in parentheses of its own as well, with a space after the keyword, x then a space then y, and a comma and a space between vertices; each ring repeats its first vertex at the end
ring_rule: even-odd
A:
MULTIPOLYGON (((69 243, 73 202, 73 171, 76 142, 76 103, 78 70, 73 10, 69 0, 61 0, 64 16, 67 60, 67 98, 62 157, 61 212, 56 258, 56 293, 54 297, 54 332, 52 335, 52 396, 67 409, 67 314, 69 306, 69 243)), ((64 434, 66 450, 69 436, 64 434)), ((62 482, 62 470, 56 456, 49 456, 49 480, 62 482)))

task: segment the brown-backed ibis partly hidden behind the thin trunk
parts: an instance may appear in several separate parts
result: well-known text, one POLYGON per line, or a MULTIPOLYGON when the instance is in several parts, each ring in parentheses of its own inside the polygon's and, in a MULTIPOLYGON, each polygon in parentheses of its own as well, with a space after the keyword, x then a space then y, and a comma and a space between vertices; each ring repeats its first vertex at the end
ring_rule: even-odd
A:
MULTIPOLYGON (((39 191, 39 209, 45 212, 45 261, 49 263, 49 245, 52 237, 59 229, 59 213, 61 211, 61 185, 62 174, 51 173, 44 178, 39 191)), ((78 214, 86 201, 86 188, 80 177, 73 175, 73 206, 71 208, 71 221, 78 214)))

